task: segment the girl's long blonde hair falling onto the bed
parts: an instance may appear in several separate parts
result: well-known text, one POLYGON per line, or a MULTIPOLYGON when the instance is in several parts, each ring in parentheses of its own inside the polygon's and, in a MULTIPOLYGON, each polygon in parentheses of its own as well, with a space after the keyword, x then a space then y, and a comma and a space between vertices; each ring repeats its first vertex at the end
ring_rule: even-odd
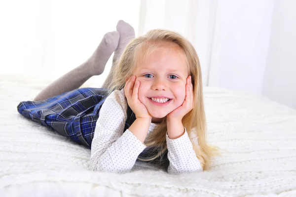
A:
MULTIPOLYGON (((132 76, 133 70, 139 60, 147 59, 150 52, 157 48, 157 43, 173 43, 177 44, 183 50, 187 60, 189 75, 192 77, 194 90, 194 108, 185 115, 182 119, 188 136, 195 135, 198 137, 198 145, 191 138, 191 143, 195 151, 196 157, 200 160, 203 170, 207 170, 211 165, 211 157, 220 155, 219 148, 210 146, 206 142, 206 117, 203 104, 202 78, 200 63, 197 53, 192 44, 176 32, 168 30, 151 30, 146 35, 133 39, 125 48, 120 59, 112 70, 113 76, 110 81, 107 81, 107 87, 110 92, 117 89, 120 90, 125 85, 125 79, 132 76), (152 50, 143 48, 150 47, 152 50), (141 57, 141 58, 140 58, 141 57)), ((145 140, 148 148, 156 150, 157 155, 150 158, 142 158, 141 160, 151 161, 167 151, 166 146, 166 118, 160 123, 159 129, 151 133, 145 140)), ((140 159, 140 158, 139 158, 140 159)))

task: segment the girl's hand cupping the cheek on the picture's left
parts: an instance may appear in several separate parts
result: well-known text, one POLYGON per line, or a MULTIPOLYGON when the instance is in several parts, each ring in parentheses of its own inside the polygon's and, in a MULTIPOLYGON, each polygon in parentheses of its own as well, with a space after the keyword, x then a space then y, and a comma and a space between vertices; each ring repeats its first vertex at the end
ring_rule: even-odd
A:
POLYGON ((149 118, 152 119, 148 113, 146 106, 139 100, 138 92, 140 87, 140 81, 136 81, 136 76, 131 76, 124 85, 124 94, 127 99, 127 103, 132 111, 135 113, 136 118, 149 118))

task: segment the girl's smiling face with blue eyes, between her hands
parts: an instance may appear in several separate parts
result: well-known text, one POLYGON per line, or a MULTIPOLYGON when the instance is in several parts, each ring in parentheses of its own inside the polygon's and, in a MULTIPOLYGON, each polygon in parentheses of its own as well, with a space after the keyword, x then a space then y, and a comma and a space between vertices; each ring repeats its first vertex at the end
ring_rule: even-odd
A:
POLYGON ((136 66, 133 75, 140 81, 139 100, 153 117, 152 122, 160 122, 183 104, 188 69, 179 46, 159 47, 136 66))

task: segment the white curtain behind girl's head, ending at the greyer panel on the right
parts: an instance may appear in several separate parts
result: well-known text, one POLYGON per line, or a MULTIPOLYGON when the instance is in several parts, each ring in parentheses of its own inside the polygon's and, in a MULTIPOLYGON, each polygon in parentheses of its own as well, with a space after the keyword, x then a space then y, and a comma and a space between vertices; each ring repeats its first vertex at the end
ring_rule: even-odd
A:
POLYGON ((142 0, 147 11, 139 33, 165 28, 184 35, 196 48, 204 85, 261 91, 273 1, 157 2, 142 0))

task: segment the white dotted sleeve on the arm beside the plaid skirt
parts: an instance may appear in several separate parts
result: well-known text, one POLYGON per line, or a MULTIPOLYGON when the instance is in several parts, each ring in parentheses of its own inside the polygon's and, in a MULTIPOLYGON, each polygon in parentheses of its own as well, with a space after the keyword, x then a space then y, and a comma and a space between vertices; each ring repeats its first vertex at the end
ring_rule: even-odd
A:
POLYGON ((100 110, 91 144, 92 170, 128 172, 146 148, 130 130, 123 133, 127 103, 120 91, 112 92, 100 110))

